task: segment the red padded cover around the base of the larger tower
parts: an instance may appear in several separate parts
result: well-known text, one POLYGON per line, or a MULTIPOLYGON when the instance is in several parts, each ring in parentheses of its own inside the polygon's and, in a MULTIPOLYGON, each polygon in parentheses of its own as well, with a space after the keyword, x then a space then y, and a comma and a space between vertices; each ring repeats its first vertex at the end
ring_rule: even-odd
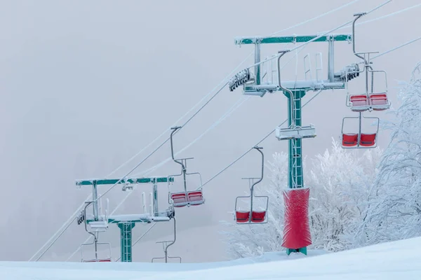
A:
POLYGON ((283 228, 284 248, 298 249, 312 244, 309 226, 309 188, 283 191, 285 221, 283 228))

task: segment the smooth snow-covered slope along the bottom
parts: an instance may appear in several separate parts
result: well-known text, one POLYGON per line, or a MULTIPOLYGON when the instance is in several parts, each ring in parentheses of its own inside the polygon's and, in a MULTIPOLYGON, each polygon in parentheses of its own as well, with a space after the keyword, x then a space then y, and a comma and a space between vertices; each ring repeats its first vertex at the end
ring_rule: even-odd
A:
POLYGON ((2 280, 421 279, 421 238, 339 253, 267 253, 227 262, 0 262, 2 280))

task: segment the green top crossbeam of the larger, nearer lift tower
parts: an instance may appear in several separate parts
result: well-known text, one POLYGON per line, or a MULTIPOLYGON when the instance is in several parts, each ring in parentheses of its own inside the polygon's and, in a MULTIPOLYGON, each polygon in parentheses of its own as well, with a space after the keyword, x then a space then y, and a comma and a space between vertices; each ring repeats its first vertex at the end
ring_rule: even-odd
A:
MULTIPOLYGON (((236 45, 248 45, 248 44, 255 44, 256 41, 259 43, 305 43, 308 42, 318 36, 316 35, 308 35, 308 36, 275 36, 275 37, 246 37, 246 38, 236 38, 235 44, 236 45)), ((328 42, 330 40, 333 41, 351 41, 352 35, 351 34, 334 34, 330 36, 321 36, 317 38, 313 42, 328 42)))

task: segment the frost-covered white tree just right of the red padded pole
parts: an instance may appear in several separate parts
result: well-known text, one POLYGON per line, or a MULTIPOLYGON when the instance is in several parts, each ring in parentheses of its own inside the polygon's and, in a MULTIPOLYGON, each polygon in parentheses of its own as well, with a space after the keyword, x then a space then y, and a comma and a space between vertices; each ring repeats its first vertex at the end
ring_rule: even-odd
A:
POLYGON ((359 245, 354 232, 363 221, 381 154, 380 148, 362 154, 345 150, 333 140, 331 151, 312 160, 307 176, 312 248, 342 251, 359 245))

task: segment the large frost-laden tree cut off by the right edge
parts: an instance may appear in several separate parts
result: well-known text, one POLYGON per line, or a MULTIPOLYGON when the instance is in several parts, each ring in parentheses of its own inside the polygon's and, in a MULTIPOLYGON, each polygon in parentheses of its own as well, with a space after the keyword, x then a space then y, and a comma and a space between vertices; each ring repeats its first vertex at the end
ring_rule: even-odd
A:
POLYGON ((387 122, 389 146, 379 164, 370 207, 359 232, 366 244, 421 236, 421 62, 387 122))

